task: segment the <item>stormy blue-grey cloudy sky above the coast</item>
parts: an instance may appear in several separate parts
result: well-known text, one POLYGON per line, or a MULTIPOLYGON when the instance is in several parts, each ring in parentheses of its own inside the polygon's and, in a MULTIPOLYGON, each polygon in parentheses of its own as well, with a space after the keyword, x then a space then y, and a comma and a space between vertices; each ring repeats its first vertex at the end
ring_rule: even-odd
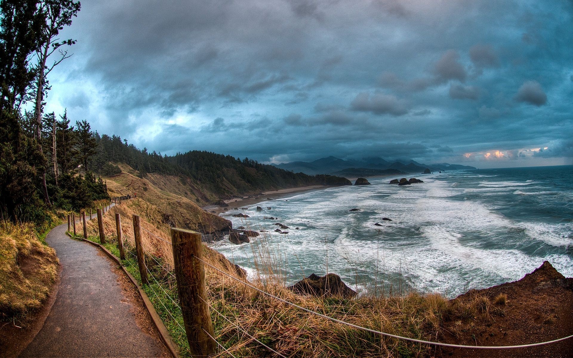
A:
POLYGON ((570 0, 90 0, 48 111, 175 154, 573 164, 570 0))

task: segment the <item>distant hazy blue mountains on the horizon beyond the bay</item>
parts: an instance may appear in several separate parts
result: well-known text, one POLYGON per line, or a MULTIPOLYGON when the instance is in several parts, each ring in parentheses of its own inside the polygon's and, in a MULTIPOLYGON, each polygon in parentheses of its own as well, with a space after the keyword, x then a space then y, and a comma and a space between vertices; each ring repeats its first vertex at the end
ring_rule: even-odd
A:
POLYGON ((332 174, 341 176, 372 176, 386 174, 422 173, 429 168, 432 172, 476 169, 475 167, 460 164, 435 163, 422 164, 412 159, 399 159, 388 162, 379 157, 344 160, 329 156, 313 162, 290 162, 273 164, 274 166, 292 171, 303 172, 308 175, 332 174))

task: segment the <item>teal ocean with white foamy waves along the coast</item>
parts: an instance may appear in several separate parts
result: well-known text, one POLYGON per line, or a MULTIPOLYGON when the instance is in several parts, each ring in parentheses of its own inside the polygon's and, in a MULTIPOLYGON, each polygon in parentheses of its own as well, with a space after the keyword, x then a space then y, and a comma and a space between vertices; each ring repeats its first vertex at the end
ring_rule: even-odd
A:
POLYGON ((251 277, 261 257, 271 257, 286 284, 331 272, 361 293, 455 297, 519 280, 545 260, 573 276, 573 166, 407 177, 424 183, 368 178, 372 185, 264 201, 257 204, 262 211, 257 205, 229 210, 222 216, 233 227, 267 232, 250 243, 211 246, 251 277), (231 216, 237 213, 250 218, 231 216), (277 222, 289 227, 288 234, 274 232, 277 222))

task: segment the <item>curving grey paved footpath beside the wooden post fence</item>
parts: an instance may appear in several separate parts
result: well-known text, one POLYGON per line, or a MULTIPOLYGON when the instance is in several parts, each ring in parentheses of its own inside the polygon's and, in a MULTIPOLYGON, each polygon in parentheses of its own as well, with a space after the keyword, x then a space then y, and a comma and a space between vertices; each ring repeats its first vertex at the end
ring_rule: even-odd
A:
MULTIPOLYGON (((95 215, 94 215, 95 216, 95 215)), ((62 265, 56 301, 21 357, 160 357, 162 345, 138 328, 107 258, 69 238, 67 223, 46 242, 62 265)))

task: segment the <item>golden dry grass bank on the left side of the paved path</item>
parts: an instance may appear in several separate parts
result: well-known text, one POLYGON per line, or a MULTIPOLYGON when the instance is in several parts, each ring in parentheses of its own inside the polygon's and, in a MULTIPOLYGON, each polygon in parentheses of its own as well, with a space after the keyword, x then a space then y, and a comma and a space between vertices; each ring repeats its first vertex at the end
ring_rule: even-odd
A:
POLYGON ((23 320, 56 282, 56 251, 41 240, 31 224, 0 222, 0 319, 23 320))

